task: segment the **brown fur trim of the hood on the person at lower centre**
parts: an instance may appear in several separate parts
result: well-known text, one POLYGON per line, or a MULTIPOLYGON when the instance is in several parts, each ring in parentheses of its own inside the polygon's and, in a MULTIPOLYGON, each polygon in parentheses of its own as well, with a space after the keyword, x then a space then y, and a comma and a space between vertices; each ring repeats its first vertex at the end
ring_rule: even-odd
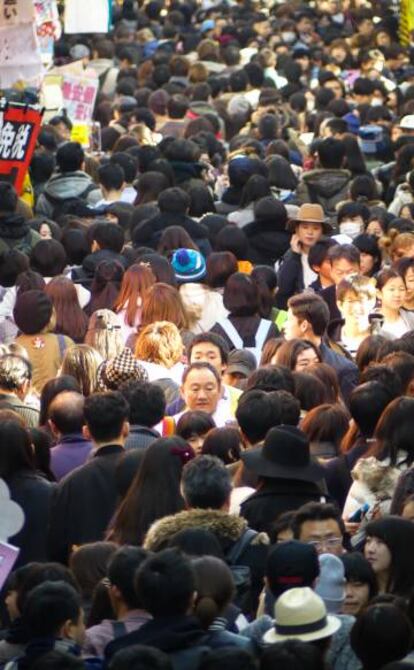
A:
MULTIPOLYGON (((227 548, 242 536, 247 528, 247 521, 221 510, 185 510, 153 523, 145 537, 144 548, 150 551, 160 551, 166 547, 167 542, 175 533, 186 528, 200 527, 214 533, 223 548, 227 548)), ((266 533, 258 533, 251 544, 269 544, 269 538, 266 533)))

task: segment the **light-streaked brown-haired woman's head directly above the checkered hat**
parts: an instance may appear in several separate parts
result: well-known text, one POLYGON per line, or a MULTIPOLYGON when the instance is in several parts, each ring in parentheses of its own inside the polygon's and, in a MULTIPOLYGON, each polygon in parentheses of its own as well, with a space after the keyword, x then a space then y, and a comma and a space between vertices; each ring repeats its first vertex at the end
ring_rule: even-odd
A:
POLYGON ((125 347, 118 315, 110 309, 98 309, 88 323, 84 344, 88 344, 104 361, 115 358, 125 347))

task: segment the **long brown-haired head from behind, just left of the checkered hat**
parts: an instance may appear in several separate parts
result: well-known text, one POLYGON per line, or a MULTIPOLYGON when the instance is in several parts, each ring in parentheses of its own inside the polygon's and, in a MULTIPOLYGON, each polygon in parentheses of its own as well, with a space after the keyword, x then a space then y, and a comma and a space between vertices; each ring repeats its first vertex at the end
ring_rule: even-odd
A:
POLYGON ((80 392, 85 397, 97 390, 98 368, 101 355, 87 344, 75 344, 65 354, 60 374, 70 375, 79 383, 80 392))

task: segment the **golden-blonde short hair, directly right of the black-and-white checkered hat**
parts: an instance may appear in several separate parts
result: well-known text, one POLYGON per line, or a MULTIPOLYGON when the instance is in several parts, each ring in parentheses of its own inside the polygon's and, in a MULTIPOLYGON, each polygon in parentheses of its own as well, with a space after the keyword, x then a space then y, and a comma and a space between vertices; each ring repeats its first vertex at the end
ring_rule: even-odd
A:
POLYGON ((158 363, 167 369, 181 360, 183 341, 177 326, 169 321, 156 321, 144 328, 137 339, 138 360, 158 363))

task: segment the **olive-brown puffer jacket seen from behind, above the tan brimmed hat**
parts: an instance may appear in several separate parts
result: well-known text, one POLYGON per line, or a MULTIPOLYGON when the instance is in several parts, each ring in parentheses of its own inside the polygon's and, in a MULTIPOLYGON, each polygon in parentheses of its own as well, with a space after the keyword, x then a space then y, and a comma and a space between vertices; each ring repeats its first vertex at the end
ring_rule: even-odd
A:
POLYGON ((336 206, 348 196, 352 175, 349 170, 310 170, 304 172, 296 189, 300 204, 318 203, 326 216, 334 217, 336 206))

